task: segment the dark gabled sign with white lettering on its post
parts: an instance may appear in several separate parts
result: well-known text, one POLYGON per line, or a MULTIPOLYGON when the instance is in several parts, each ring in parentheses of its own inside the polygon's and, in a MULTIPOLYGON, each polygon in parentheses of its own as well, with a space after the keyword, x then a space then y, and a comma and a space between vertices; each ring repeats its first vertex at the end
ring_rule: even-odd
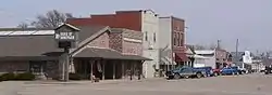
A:
POLYGON ((62 59, 64 64, 62 65, 62 80, 69 81, 69 67, 70 67, 70 49, 76 46, 76 41, 78 39, 78 31, 79 29, 70 25, 63 24, 60 27, 54 29, 54 39, 58 43, 59 49, 64 49, 64 58, 62 59))

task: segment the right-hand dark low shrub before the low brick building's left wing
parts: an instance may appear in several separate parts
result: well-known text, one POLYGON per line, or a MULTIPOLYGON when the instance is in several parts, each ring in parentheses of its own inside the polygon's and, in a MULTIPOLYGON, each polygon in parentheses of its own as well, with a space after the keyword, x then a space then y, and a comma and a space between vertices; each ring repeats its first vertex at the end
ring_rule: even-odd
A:
POLYGON ((35 80, 35 74, 30 72, 18 73, 15 76, 15 80, 32 81, 32 80, 35 80))

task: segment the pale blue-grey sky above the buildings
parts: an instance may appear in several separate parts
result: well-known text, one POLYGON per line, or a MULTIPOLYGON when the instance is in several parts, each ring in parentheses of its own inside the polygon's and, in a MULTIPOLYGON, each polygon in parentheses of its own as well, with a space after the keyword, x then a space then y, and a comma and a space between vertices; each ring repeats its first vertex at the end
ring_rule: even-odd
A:
POLYGON ((35 21, 50 10, 76 17, 122 10, 151 9, 160 16, 176 16, 186 23, 186 44, 211 45, 235 51, 272 51, 272 0, 4 0, 0 27, 35 21))

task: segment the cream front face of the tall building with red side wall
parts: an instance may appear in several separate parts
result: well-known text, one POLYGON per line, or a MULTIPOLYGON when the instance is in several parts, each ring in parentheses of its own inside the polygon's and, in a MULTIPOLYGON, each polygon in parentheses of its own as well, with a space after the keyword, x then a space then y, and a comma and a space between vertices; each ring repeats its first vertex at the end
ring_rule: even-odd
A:
POLYGON ((143 56, 151 58, 143 64, 143 73, 146 78, 153 78, 159 69, 159 16, 152 10, 141 11, 143 56))

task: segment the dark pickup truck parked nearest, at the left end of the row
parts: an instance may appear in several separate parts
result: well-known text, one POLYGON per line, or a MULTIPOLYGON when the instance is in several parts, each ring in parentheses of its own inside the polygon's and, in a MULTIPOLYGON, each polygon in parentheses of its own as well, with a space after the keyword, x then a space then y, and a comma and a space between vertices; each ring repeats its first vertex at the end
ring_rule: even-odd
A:
POLYGON ((173 70, 166 71, 165 76, 168 79, 180 79, 180 78, 201 78, 206 74, 205 69, 191 68, 191 67, 177 67, 173 70))

